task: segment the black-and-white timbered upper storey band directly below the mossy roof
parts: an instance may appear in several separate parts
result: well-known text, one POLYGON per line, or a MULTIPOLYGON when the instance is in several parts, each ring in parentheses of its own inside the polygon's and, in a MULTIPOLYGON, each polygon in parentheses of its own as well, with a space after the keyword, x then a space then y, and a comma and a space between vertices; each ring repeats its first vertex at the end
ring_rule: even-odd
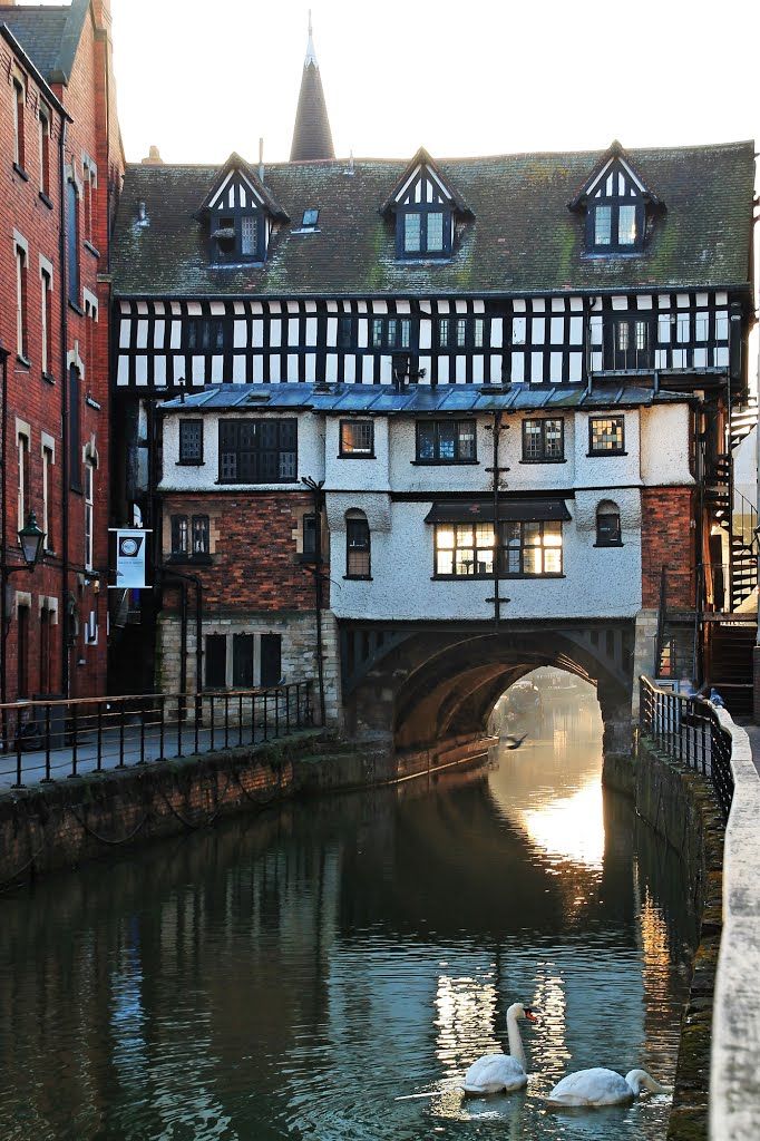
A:
POLYGON ((611 374, 726 373, 731 311, 727 290, 122 299, 116 385, 160 396, 209 383, 587 385, 611 374))

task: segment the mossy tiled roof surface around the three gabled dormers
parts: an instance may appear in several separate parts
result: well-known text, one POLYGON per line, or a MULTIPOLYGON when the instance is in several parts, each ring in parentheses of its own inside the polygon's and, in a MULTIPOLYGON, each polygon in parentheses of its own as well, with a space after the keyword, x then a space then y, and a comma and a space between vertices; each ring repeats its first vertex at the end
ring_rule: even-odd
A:
POLYGON ((474 213, 443 261, 395 256, 394 219, 380 213, 407 160, 272 164, 265 184, 291 218, 264 265, 210 262, 196 218, 220 167, 130 165, 113 246, 119 296, 509 296, 574 291, 746 288, 754 145, 625 152, 658 211, 640 254, 589 257, 584 218, 568 209, 604 152, 439 160, 474 213), (138 220, 145 202, 147 220, 138 220), (316 232, 298 233, 318 208, 316 232))

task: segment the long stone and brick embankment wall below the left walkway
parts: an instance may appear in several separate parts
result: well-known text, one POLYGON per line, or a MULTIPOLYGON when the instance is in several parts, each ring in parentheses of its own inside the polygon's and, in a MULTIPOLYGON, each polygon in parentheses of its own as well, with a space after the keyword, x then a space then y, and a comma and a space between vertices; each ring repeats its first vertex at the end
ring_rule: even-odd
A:
POLYGON ((452 737, 394 755, 318 730, 254 750, 108 770, 0 796, 0 885, 73 867, 105 852, 207 827, 296 793, 395 783, 479 763, 492 738, 452 737))

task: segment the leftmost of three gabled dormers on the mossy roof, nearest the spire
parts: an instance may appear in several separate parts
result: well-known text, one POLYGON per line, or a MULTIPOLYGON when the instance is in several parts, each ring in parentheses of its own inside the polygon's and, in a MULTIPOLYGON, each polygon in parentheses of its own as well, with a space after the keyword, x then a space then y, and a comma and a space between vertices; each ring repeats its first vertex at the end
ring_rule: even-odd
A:
POLYGON ((197 212, 208 226, 209 258, 217 265, 266 261, 273 225, 289 221, 261 179, 232 154, 197 212))

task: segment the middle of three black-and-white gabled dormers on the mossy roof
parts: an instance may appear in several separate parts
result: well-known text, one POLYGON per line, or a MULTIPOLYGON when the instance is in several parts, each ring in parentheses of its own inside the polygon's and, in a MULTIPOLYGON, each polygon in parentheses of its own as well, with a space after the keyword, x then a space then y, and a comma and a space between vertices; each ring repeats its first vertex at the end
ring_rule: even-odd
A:
POLYGON ((451 257, 456 218, 472 217, 425 147, 417 152, 380 213, 395 216, 396 257, 414 260, 451 257))

